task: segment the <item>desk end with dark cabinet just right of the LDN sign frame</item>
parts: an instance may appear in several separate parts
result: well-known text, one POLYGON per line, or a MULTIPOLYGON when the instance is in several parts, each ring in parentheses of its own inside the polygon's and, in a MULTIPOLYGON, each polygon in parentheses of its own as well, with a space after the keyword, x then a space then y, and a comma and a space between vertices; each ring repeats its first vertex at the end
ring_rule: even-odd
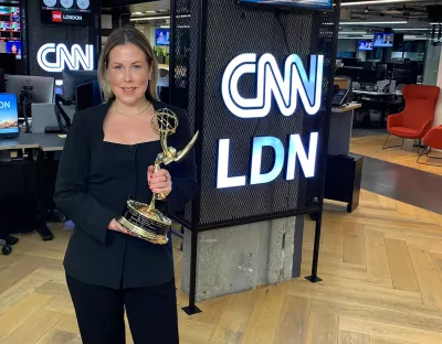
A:
POLYGON ((359 205, 362 157, 350 154, 354 112, 361 104, 333 107, 328 136, 325 198, 347 203, 351 213, 359 205))

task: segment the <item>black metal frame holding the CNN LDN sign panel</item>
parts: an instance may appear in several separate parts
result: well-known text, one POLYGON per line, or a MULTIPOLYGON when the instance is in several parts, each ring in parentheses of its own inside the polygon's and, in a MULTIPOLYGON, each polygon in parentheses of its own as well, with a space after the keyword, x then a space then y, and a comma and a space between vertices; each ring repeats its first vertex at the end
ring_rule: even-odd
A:
MULTIPOLYGON (((177 0, 170 0, 170 9, 171 9, 171 42, 176 40, 176 3, 177 0)), ((197 106, 196 106, 196 118, 194 118, 194 131, 199 131, 200 138, 194 146, 196 157, 197 157, 197 181, 198 184, 201 184, 201 164, 202 164, 202 142, 204 136, 203 128, 203 103, 204 103, 204 63, 206 63, 206 43, 207 43, 207 10, 208 3, 204 0, 200 1, 200 6, 198 9, 198 52, 197 52, 197 106)), ((334 43, 333 43, 333 52, 332 52, 332 63, 329 65, 330 73, 329 82, 333 85, 334 72, 335 72, 335 63, 336 63, 336 50, 337 50, 337 33, 339 28, 339 17, 340 17, 340 0, 336 1, 336 11, 338 11, 335 25, 334 25, 334 43)), ((175 68, 176 68, 176 58, 175 54, 171 50, 170 54, 170 101, 173 104, 172 97, 172 85, 175 77, 175 68)), ((312 218, 316 221, 315 227, 315 243, 314 243, 314 252, 313 252, 313 264, 312 264, 312 275, 305 277, 311 282, 319 282, 322 279, 317 276, 317 267, 318 267, 318 256, 319 256, 319 240, 320 240, 320 227, 322 227, 322 217, 323 217, 323 206, 324 206, 324 194, 325 194, 325 184, 326 184, 326 163, 327 163, 327 152, 328 152, 328 135, 329 135, 329 125, 330 125, 330 112, 332 112, 332 100, 333 100, 333 87, 329 87, 328 94, 328 103, 326 108, 326 123, 325 123, 325 139, 322 147, 322 163, 324 165, 324 171, 320 176, 320 190, 318 203, 315 206, 308 207, 302 211, 292 211, 292 212, 283 212, 271 215, 255 216, 253 218, 242 218, 238 221, 231 221, 229 223, 223 222, 222 224, 211 224, 211 225, 200 225, 200 208, 201 208, 201 193, 197 195, 192 203, 192 221, 191 224, 187 223, 182 218, 177 216, 172 216, 175 221, 183 225, 191 232, 191 246, 190 246, 190 281, 189 281, 189 304, 188 307, 182 308, 182 310, 188 314, 197 314, 200 313, 201 310, 196 305, 196 294, 197 294, 197 250, 198 250, 198 234, 204 230, 212 230, 225 226, 238 226, 250 224, 254 222, 270 221, 276 218, 283 218, 288 216, 301 216, 301 215, 311 215, 312 218)))

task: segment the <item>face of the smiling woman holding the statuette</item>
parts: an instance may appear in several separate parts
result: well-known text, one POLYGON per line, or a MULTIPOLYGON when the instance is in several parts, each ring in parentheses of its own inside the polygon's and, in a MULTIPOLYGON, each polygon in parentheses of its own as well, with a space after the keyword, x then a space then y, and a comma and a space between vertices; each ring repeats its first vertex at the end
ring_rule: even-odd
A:
POLYGON ((144 100, 152 71, 138 46, 131 43, 115 46, 109 53, 107 73, 119 101, 130 106, 144 100))

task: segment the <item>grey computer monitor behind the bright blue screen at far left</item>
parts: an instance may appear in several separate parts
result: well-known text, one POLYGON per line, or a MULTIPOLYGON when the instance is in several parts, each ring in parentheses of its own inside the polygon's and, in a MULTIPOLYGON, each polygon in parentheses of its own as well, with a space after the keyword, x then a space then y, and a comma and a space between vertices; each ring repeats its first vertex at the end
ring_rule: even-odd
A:
POLYGON ((15 94, 19 98, 24 86, 32 87, 32 103, 53 103, 54 83, 55 80, 51 76, 10 75, 8 76, 7 92, 15 94))

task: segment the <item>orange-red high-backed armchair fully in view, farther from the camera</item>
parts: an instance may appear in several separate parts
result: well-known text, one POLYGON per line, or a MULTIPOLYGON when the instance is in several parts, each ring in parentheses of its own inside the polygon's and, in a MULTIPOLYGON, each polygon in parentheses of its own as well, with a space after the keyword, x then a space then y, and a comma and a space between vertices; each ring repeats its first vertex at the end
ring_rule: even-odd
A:
POLYGON ((438 86, 406 85, 402 95, 406 108, 402 112, 388 116, 388 137, 382 149, 402 147, 403 139, 422 139, 433 125, 439 98, 438 86), (390 135, 401 138, 402 144, 386 147, 390 135))

